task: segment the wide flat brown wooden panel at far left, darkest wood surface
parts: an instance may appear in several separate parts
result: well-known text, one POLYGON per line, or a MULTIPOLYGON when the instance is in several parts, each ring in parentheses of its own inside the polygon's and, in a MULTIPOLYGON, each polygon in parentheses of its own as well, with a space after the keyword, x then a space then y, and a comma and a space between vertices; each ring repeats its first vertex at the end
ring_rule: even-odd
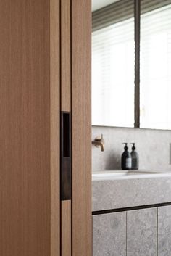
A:
POLYGON ((51 253, 49 28, 50 1, 0 1, 1 256, 51 253))

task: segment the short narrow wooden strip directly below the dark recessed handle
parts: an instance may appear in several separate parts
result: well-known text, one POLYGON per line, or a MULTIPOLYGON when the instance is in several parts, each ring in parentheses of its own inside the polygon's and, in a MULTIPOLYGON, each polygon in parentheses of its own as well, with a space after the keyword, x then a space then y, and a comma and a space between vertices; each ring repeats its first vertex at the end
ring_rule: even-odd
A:
POLYGON ((71 256, 71 201, 61 203, 61 255, 71 256))

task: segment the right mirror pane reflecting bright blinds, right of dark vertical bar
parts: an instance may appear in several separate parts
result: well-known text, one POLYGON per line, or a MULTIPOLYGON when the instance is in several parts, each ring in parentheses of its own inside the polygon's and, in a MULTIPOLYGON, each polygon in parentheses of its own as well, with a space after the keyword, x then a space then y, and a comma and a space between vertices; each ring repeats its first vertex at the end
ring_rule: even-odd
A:
POLYGON ((141 128, 171 129, 171 1, 141 0, 141 128))

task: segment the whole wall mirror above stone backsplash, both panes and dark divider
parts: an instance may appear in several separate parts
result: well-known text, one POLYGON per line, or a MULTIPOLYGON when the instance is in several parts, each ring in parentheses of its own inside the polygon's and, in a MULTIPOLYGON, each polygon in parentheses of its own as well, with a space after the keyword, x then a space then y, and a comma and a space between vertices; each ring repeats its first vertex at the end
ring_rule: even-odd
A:
POLYGON ((92 0, 92 125, 171 129, 171 0, 92 0))

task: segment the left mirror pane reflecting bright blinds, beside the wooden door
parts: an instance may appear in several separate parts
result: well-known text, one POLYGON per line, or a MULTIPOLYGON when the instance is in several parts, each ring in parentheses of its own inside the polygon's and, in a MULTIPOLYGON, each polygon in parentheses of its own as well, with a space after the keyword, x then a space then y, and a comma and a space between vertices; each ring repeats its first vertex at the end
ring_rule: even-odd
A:
POLYGON ((92 125, 134 126, 134 0, 93 0, 92 125))

